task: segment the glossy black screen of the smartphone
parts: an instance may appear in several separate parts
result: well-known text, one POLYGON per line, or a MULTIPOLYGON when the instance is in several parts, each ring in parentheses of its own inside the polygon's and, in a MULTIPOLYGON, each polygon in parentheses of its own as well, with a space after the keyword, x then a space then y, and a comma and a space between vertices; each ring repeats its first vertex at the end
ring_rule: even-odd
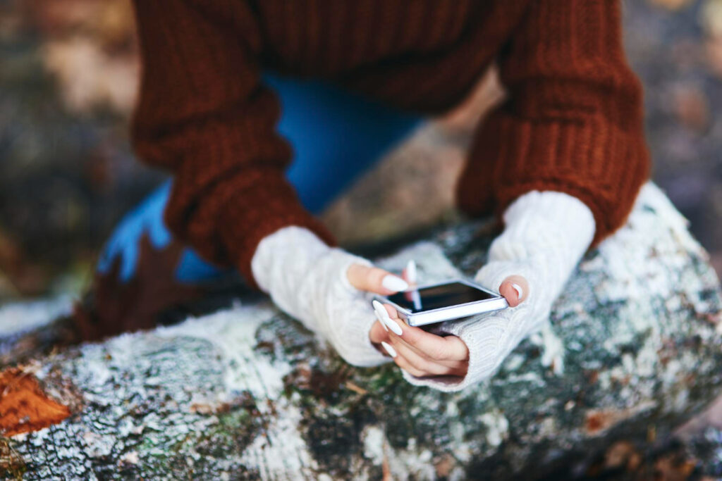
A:
POLYGON ((486 301, 497 296, 489 294, 461 282, 451 282, 421 288, 416 291, 398 292, 388 296, 388 300, 410 312, 424 312, 432 309, 466 304, 468 302, 486 301))

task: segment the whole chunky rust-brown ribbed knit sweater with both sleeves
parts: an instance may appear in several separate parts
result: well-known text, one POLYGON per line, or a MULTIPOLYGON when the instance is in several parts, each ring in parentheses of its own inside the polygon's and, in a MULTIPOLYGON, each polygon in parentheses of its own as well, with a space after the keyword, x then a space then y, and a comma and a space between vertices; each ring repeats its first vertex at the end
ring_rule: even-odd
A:
MULTIPOLYGON (((596 241, 648 176, 641 89, 613 0, 136 0, 143 56, 134 144, 175 175, 166 221, 251 278, 256 245, 303 226, 332 242, 284 178, 290 146, 261 70, 315 76, 434 115, 492 61, 508 100, 479 125, 458 204, 479 214, 529 190, 575 195, 596 241)), ((323 139, 320 139, 323 141, 323 139)), ((344 162, 344 159, 339 159, 344 162)), ((252 279, 251 279, 252 281, 252 279)))

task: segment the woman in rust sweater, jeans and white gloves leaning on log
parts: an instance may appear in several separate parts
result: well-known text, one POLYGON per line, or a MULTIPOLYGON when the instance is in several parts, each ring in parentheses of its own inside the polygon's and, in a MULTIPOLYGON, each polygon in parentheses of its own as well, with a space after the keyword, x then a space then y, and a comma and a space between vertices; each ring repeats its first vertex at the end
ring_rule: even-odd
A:
POLYGON ((133 277, 129 253, 142 232, 170 242, 162 213, 199 254, 184 257, 181 278, 217 272, 200 258, 238 269, 349 363, 393 356, 414 384, 456 390, 491 376, 547 319, 588 247, 624 223, 648 176, 617 1, 139 0, 136 12, 144 63, 134 144, 173 172, 173 185, 124 221, 100 270, 123 255, 133 277), (400 322, 391 306, 374 312, 365 291, 391 294, 405 281, 329 247, 302 201, 318 211, 414 125, 391 109, 450 110, 494 61, 508 99, 478 126, 457 198, 472 215, 503 215, 477 281, 512 308, 435 335, 400 322), (321 79, 383 107, 316 84, 294 92, 270 72, 321 79), (274 86, 297 149, 289 178, 274 86), (338 118, 351 118, 335 133, 334 121, 313 128, 326 94, 331 110, 344 109, 338 118), (347 101, 367 109, 358 123, 347 101))

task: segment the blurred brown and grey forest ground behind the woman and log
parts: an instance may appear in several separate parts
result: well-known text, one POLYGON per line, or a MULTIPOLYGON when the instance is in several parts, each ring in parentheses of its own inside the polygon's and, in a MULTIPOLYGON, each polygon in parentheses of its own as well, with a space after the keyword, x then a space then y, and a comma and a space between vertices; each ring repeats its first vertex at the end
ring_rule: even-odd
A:
MULTIPOLYGON (((722 273, 722 0, 625 0, 624 12, 653 178, 722 273)), ((129 148, 138 73, 130 0, 0 0, 0 301, 82 291, 113 226, 164 178, 129 148)), ((488 75, 326 223, 354 244, 453 216, 469 129, 501 95, 488 75), (405 187, 373 182, 399 169, 405 187)))

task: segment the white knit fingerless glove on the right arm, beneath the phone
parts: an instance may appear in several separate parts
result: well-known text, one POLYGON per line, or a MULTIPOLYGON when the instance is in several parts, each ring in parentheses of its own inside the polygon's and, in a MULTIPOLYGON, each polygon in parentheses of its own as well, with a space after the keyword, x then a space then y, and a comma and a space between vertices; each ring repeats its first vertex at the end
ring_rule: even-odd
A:
POLYGON ((509 275, 529 282, 526 299, 516 307, 474 319, 445 322, 435 332, 461 337, 469 348, 464 378, 417 378, 412 384, 456 391, 487 379, 516 345, 548 322, 552 303, 594 237, 591 210, 565 193, 531 192, 512 203, 504 214, 505 229, 492 243, 489 262, 476 280, 498 291, 509 275))

